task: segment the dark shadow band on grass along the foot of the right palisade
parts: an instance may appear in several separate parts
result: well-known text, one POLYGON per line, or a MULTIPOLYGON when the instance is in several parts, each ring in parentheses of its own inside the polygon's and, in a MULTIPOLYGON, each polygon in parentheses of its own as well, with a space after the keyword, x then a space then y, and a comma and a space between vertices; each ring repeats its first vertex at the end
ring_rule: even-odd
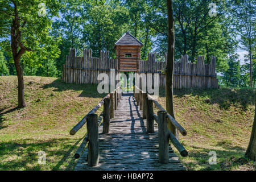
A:
MULTIPOLYGON (((244 111, 249 105, 255 105, 255 89, 251 88, 220 88, 220 89, 174 89, 174 96, 185 95, 209 98, 211 104, 218 104, 220 109, 228 110, 231 105, 241 107, 244 111)), ((165 88, 159 88, 159 96, 165 97, 165 88)))

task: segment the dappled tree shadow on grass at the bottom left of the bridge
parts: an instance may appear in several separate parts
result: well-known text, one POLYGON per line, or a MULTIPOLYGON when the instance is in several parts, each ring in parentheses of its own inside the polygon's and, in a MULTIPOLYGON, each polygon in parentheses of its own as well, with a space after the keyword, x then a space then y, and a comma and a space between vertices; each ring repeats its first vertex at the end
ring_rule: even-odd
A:
POLYGON ((46 142, 35 139, 24 139, 14 142, 0 142, 1 170, 73 170, 77 144, 82 138, 51 139, 46 142), (76 139, 77 140, 77 139, 76 139), (74 144, 71 144, 71 143, 74 144), (46 152, 46 164, 38 164, 38 152, 46 152))

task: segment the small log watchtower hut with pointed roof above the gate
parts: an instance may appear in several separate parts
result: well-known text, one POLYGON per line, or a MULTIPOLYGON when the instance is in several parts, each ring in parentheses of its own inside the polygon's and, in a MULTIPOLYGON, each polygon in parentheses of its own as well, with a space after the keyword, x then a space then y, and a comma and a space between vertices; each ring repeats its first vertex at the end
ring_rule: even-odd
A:
POLYGON ((144 45, 133 35, 131 35, 129 31, 127 31, 126 34, 115 43, 119 71, 138 71, 142 46, 144 45))

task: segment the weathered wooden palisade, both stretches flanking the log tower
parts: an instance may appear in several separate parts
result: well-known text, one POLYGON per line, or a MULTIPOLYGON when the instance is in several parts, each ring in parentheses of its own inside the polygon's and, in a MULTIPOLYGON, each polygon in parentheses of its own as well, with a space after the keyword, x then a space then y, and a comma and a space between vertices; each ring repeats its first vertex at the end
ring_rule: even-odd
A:
MULTIPOLYGON (((97 76, 100 73, 106 73, 110 79, 110 69, 115 69, 116 76, 119 73, 118 60, 109 59, 108 51, 101 51, 100 55, 100 58, 92 57, 92 50, 84 49, 83 56, 79 57, 76 56, 76 49, 71 48, 63 65, 62 80, 67 83, 98 84, 97 76)), ((166 61, 167 55, 164 55, 164 61, 155 61, 155 53, 148 53, 148 60, 139 61, 137 73, 151 73, 153 84, 154 74, 159 73, 159 85, 166 86, 166 61)), ((188 55, 181 56, 181 60, 174 63, 174 88, 218 88, 215 66, 214 56, 210 64, 204 64, 204 56, 197 56, 197 63, 189 62, 188 55)))

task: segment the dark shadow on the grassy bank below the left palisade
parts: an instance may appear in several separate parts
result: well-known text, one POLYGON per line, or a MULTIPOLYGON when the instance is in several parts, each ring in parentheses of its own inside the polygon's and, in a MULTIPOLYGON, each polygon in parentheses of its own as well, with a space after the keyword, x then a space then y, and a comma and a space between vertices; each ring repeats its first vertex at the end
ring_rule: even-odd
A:
POLYGON ((96 84, 67 84, 61 81, 60 78, 51 82, 50 84, 46 84, 42 86, 42 88, 55 88, 53 91, 55 92, 63 92, 65 90, 75 90, 82 91, 79 97, 105 97, 106 93, 98 93, 96 84))

